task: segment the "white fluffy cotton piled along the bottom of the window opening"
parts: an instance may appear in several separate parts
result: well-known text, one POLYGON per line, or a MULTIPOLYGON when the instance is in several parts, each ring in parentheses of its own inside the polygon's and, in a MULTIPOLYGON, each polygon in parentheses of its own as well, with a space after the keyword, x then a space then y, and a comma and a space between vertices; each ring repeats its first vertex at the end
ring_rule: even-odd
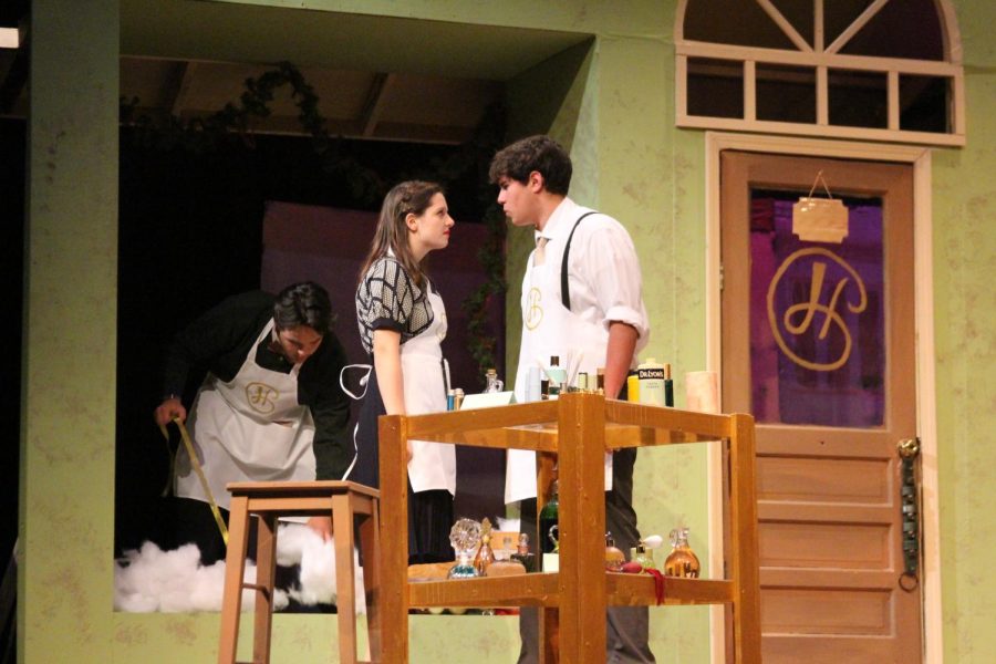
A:
MULTIPOLYGON (((356 613, 366 612, 363 574, 356 559, 356 613)), ((300 587, 274 589, 276 610, 286 609, 289 595, 302 604, 335 603, 335 551, 307 526, 281 525, 277 537, 277 563, 282 567, 300 564, 300 587)), ((256 581, 256 566, 246 563, 243 581, 256 581)), ((163 551, 145 542, 138 551, 125 552, 114 568, 114 608, 134 613, 178 613, 189 611, 221 611, 225 588, 225 561, 204 567, 195 544, 163 551)), ((242 610, 251 611, 255 592, 242 591, 242 610)))

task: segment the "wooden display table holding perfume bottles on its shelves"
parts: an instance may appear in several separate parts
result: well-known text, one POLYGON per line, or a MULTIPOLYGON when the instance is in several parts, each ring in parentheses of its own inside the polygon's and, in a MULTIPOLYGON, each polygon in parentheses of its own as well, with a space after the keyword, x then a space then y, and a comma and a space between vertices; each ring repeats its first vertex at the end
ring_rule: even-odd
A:
MULTIPOLYGON (((560 661, 594 664, 605 657, 608 605, 654 605, 654 580, 604 571, 604 453, 722 440, 729 455, 727 579, 666 580, 665 604, 727 604, 736 662, 760 662, 754 418, 710 415, 566 394, 554 402, 434 415, 380 418, 381 624, 384 662, 408 662, 411 606, 532 605, 540 611, 541 662, 553 662, 549 637, 559 623, 560 661), (409 438, 538 452, 538 486, 549 486, 554 458, 560 483, 560 571, 519 577, 409 583, 407 579, 407 460, 409 438), (582 546, 582 542, 584 546, 582 546)), ((542 507, 542 498, 538 509, 542 507)), ((456 644, 455 644, 456 645, 456 644)))

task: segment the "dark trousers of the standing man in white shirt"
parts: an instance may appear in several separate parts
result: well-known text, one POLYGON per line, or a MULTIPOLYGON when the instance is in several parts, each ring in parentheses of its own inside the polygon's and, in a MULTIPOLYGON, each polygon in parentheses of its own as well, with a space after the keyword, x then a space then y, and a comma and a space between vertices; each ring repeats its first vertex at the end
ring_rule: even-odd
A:
MULTIPOLYGON (((633 466, 636 448, 627 447, 612 455, 612 490, 605 492, 605 528, 615 539, 615 546, 629 557, 630 549, 640 540, 636 529, 636 511, 633 509, 633 466)), ((532 538, 536 532, 536 499, 523 500, 521 531, 532 538)), ((604 546, 603 541, 591 546, 604 546)), ((537 547, 539 556, 539 547, 537 547)), ((654 654, 647 645, 650 612, 646 606, 610 606, 605 611, 606 664, 654 663, 654 654)), ((522 647, 519 664, 539 661, 539 612, 522 606, 519 614, 519 636, 522 647)))

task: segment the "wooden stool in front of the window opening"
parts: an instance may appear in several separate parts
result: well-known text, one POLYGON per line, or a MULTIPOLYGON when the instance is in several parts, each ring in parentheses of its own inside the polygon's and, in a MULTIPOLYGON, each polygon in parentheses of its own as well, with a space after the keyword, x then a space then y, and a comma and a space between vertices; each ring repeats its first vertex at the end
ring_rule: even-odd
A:
POLYGON ((256 590, 256 620, 252 663, 270 661, 270 631, 273 615, 273 577, 277 567, 277 519, 290 516, 332 516, 335 547, 335 585, 339 612, 339 661, 356 660, 356 588, 353 568, 355 515, 366 517, 360 525, 363 551, 363 584, 371 601, 366 606, 370 652, 380 660, 378 619, 380 491, 352 481, 259 481, 231 483, 228 557, 225 568, 225 596, 221 602, 221 644, 219 664, 236 664, 242 589, 256 590), (256 543, 256 583, 243 583, 246 549, 249 541, 249 515, 259 517, 256 543))

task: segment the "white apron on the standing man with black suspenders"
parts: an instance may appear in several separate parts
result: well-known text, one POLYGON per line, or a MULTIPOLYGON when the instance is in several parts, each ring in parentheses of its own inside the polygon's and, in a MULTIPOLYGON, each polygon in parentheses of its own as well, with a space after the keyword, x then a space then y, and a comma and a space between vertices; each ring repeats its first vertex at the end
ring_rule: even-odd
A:
MULTIPOLYGON (((567 232, 572 228, 573 222, 567 227, 567 232)), ((516 372, 516 402, 520 404, 526 403, 529 367, 549 366, 551 355, 560 356, 561 366, 564 366, 569 352, 572 357, 580 356, 579 373, 583 371, 593 375, 600 366, 605 366, 609 331, 603 325, 582 320, 561 302, 560 271, 567 235, 561 234, 558 240, 559 251, 551 251, 551 247, 547 246, 543 264, 533 264, 533 257, 529 257, 529 269, 522 280, 522 344, 516 372)), ((509 449, 505 501, 526 498, 536 498, 536 453, 509 449)))

